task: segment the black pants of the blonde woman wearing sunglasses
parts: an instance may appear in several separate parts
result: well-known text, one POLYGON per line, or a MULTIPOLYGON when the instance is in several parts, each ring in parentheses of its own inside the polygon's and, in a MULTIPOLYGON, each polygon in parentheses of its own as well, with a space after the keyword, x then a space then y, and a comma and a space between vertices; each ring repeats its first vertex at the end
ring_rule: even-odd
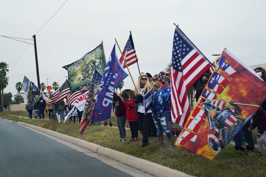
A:
POLYGON ((150 121, 153 120, 152 113, 144 113, 137 112, 138 118, 139 118, 139 124, 140 124, 140 129, 142 132, 142 136, 144 140, 148 140, 148 133, 149 133, 149 128, 150 128, 150 121))

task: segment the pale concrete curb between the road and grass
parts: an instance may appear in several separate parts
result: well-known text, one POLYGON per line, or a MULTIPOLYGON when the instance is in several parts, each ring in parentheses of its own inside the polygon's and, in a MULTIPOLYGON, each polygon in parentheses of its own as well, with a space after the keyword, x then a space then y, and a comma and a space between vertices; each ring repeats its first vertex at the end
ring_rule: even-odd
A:
POLYGON ((11 122, 11 123, 17 123, 17 124, 20 124, 23 126, 31 127, 33 129, 36 129, 36 130, 39 130, 41 132, 47 133, 49 135, 55 136, 57 138, 63 139, 65 141, 68 141, 68 142, 73 143, 75 145, 78 145, 80 147, 86 148, 88 150, 91 150, 91 151, 96 152, 98 154, 101 154, 103 156, 107 156, 111 159, 114 159, 116 161, 120 161, 124 164, 127 164, 128 166, 135 167, 137 169, 140 169, 142 171, 145 171, 147 173, 150 173, 150 174, 158 176, 158 177, 161 177, 161 176, 162 177, 163 176, 167 176, 167 177, 192 177, 192 175, 189 175, 189 174, 186 174, 184 172, 163 166, 161 164, 151 162, 151 161, 148 161, 148 160, 145 160, 145 159, 142 159, 139 157, 135 157, 132 155, 128 155, 126 153, 119 152, 117 150, 103 147, 103 146, 100 146, 98 144, 87 142, 87 141, 84 141, 82 139, 78 139, 78 138, 68 136, 68 135, 65 135, 62 133, 58 133, 56 131, 52 131, 52 130, 49 130, 46 128, 42 128, 39 126, 28 124, 25 122, 19 122, 19 121, 15 122, 15 121, 8 120, 5 118, 0 118, 0 119, 3 119, 5 121, 11 122))

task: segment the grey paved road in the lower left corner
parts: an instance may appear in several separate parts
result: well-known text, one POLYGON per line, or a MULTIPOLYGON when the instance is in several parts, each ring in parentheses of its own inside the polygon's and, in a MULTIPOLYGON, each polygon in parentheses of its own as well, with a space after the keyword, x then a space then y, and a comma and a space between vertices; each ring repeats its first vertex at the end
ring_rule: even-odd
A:
POLYGON ((20 125, 0 120, 0 176, 130 176, 20 125))

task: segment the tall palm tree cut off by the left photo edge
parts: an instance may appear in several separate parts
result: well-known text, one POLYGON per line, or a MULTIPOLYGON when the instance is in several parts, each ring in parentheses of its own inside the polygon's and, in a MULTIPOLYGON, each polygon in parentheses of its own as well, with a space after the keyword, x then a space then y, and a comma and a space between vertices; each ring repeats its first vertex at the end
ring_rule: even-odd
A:
POLYGON ((7 77, 8 68, 9 65, 7 63, 0 62, 0 112, 4 110, 4 89, 9 84, 9 77, 7 77))

